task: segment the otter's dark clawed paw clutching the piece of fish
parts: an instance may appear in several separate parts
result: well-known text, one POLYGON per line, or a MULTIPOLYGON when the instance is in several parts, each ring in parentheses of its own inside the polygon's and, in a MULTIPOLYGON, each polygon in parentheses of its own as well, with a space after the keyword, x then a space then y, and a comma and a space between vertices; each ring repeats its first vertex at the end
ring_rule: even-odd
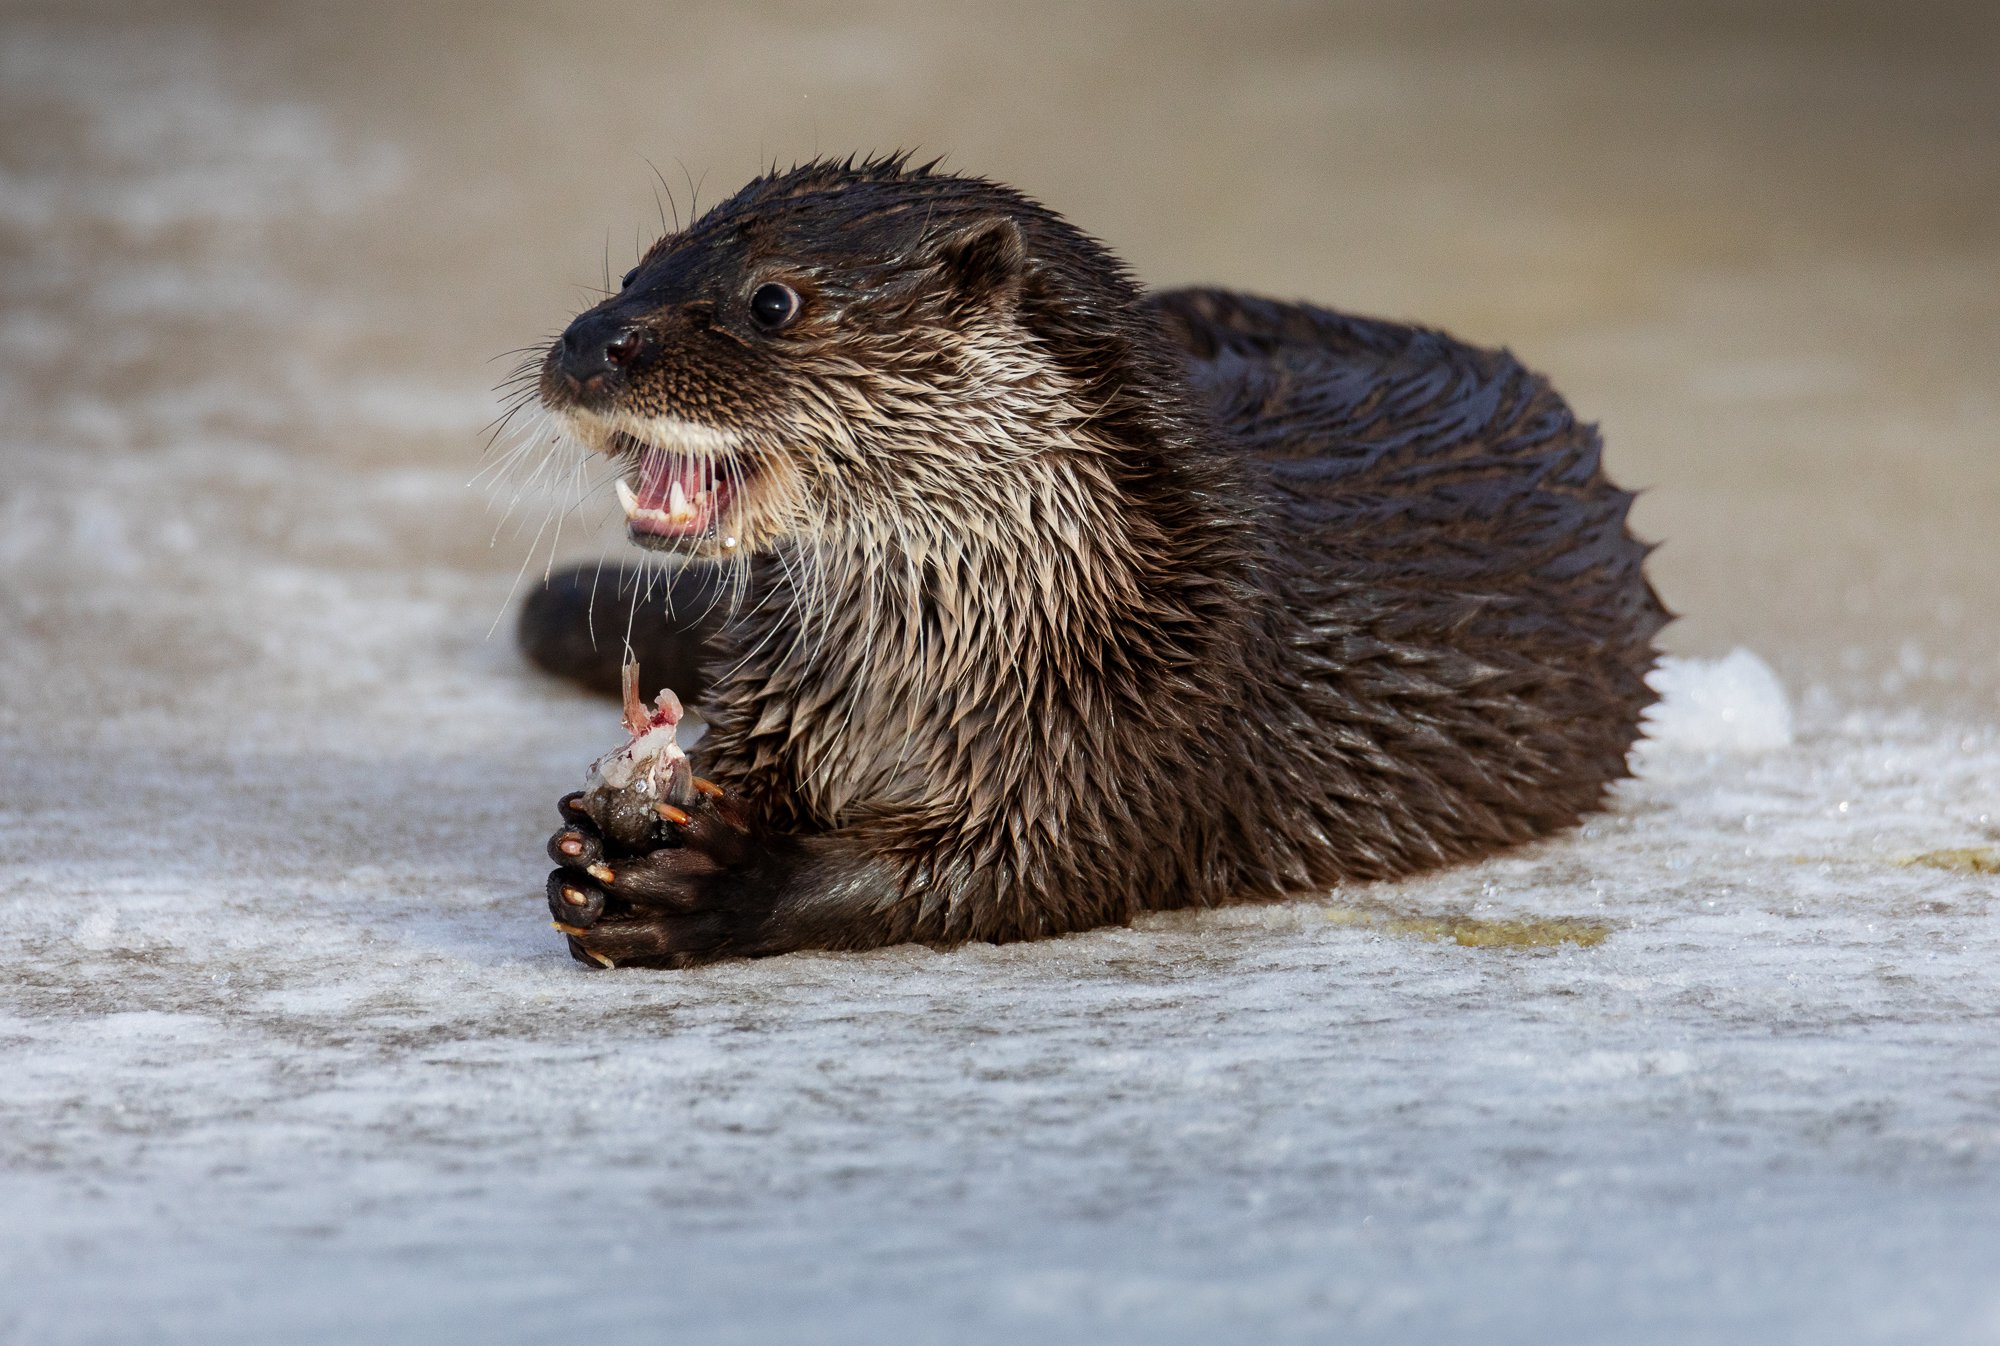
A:
POLYGON ((726 956, 756 924, 756 886, 744 882, 756 846, 726 798, 704 792, 686 808, 660 806, 644 850, 610 842, 582 794, 558 808, 548 912, 578 962, 684 968, 726 956))

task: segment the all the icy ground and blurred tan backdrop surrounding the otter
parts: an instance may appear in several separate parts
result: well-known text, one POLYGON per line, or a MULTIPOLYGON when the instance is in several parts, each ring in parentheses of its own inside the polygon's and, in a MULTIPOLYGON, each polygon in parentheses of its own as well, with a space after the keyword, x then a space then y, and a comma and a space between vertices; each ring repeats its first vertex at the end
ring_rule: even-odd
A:
POLYGON ((1996 72, 1992 0, 6 0, 0 1340, 2000 1340, 1996 72), (506 352, 890 148, 1514 348, 1784 690, 1406 884, 578 972, 616 718, 506 634, 624 544, 490 480, 506 352))

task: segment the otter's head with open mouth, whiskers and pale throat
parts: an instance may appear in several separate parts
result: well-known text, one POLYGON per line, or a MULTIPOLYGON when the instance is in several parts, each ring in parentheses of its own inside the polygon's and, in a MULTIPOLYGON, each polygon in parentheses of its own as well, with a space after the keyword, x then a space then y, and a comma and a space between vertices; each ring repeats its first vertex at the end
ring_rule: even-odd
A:
POLYGON ((548 348, 540 398, 620 460, 646 548, 984 530, 1130 382, 1136 308, 1108 252, 1008 188, 806 164, 656 242, 548 348))

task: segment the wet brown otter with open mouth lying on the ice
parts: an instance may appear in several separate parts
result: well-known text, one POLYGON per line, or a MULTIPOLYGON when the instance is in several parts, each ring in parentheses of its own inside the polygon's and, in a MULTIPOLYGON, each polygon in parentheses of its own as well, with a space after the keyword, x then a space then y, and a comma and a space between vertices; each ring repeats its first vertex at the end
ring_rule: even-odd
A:
MULTIPOLYGON (((1572 826, 1668 612, 1550 384, 1442 332, 1144 292, 1024 194, 772 170, 548 346, 546 410, 684 566, 634 632, 714 782, 636 844, 560 802, 592 966, 1026 940, 1572 826), (720 598, 720 600, 718 600, 720 598)), ((572 574, 530 658, 626 626, 572 574)))

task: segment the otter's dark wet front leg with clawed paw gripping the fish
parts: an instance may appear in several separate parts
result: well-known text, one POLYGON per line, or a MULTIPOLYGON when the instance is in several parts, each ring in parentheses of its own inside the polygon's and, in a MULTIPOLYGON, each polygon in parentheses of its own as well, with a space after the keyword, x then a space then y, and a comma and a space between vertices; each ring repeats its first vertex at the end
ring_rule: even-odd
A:
POLYGON ((850 836, 762 832, 726 798, 662 810, 658 846, 606 840, 572 794, 550 838, 548 910, 578 962, 686 968, 912 938, 894 868, 850 836))

